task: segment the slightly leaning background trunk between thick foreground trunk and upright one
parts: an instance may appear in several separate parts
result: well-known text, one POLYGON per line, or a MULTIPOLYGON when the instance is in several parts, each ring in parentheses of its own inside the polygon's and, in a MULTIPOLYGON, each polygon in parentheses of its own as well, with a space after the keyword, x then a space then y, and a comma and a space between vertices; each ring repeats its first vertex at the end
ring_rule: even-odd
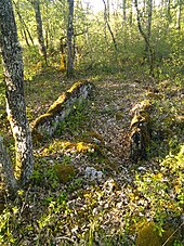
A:
POLYGON ((44 46, 44 38, 43 38, 43 26, 42 26, 41 11, 40 11, 40 0, 35 0, 32 2, 32 5, 34 5, 36 22, 37 22, 37 35, 38 35, 39 50, 47 63, 47 49, 44 46))

